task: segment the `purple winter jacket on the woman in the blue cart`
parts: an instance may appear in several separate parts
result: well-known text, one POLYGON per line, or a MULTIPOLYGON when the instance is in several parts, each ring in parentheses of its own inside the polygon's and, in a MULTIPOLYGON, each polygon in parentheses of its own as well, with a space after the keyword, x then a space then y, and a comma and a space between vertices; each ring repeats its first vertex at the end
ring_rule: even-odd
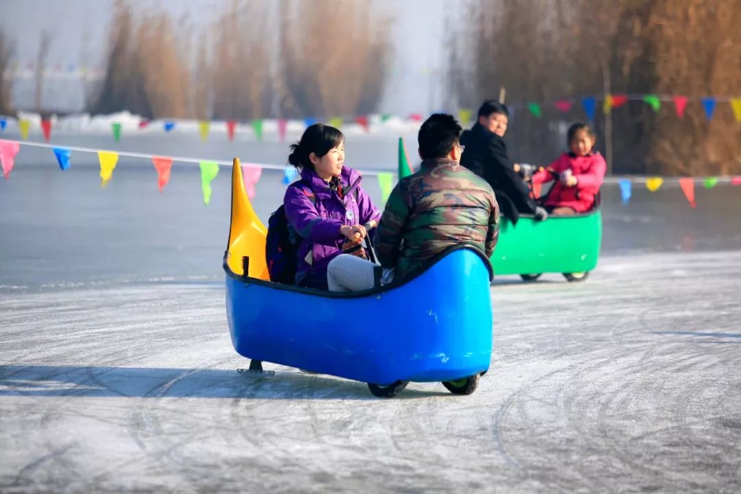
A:
POLYGON ((319 178, 313 170, 301 171, 298 187, 288 187, 283 198, 285 216, 296 233, 302 237, 296 264, 296 284, 327 287, 327 264, 342 253, 345 236, 339 233, 343 224, 365 224, 381 219, 381 211, 371 197, 360 187, 362 176, 356 170, 342 167, 341 198, 336 190, 319 178), (307 188, 305 184, 308 184, 307 188), (357 189, 357 193, 356 193, 357 189), (316 201, 312 201, 312 195, 316 201))

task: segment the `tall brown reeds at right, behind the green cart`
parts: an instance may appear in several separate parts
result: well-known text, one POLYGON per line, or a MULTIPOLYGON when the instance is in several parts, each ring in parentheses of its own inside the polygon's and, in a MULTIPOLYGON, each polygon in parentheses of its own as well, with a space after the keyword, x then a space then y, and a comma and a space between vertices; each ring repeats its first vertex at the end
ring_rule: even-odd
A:
MULTIPOLYGON (((453 43, 450 87, 476 107, 506 88, 506 100, 548 101, 604 93, 741 96, 738 0, 492 0, 471 4, 468 29, 453 43)), ((565 148, 564 120, 518 113, 508 139, 519 161, 545 163, 565 148)), ((597 113, 599 147, 605 119, 597 113)), ((679 119, 630 101, 611 113, 614 173, 741 173, 741 124, 719 104, 707 121, 699 101, 679 119)))

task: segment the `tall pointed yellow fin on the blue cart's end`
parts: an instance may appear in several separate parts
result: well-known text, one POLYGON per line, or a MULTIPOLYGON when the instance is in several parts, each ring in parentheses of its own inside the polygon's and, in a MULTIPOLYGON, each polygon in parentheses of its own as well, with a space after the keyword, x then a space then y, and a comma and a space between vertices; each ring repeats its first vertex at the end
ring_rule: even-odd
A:
POLYGON ((233 273, 242 276, 242 257, 250 258, 249 273, 252 278, 270 280, 265 263, 265 237, 268 229, 252 209, 247 197, 245 181, 239 158, 232 165, 232 212, 227 245, 227 264, 233 273))

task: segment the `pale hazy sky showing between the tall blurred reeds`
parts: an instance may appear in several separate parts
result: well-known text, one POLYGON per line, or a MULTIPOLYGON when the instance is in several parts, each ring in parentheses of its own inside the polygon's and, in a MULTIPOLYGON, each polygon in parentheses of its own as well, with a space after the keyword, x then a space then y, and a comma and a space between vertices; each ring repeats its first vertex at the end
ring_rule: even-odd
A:
MULTIPOLYGON (((130 4, 137 10, 167 10, 175 19, 189 13, 193 23, 207 24, 230 1, 130 0, 130 4)), ((450 26, 446 18, 456 15, 462 2, 371 1, 394 19, 393 68, 379 110, 396 114, 436 110, 442 104, 438 74, 446 58, 442 53, 449 34, 446 28, 450 26)), ((53 32, 53 45, 48 65, 79 65, 87 50, 88 65, 96 67, 106 50, 113 3, 114 0, 0 0, 0 27, 16 42, 14 58, 21 66, 36 58, 41 30, 49 29, 53 32)))

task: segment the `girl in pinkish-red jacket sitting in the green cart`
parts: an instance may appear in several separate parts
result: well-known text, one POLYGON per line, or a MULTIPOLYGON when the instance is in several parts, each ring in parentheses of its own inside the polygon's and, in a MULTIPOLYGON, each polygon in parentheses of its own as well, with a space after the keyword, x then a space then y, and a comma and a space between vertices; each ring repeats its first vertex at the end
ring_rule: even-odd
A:
POLYGON ((591 210, 607 170, 605 158, 592 151, 595 137, 587 124, 578 122, 569 127, 567 140, 571 152, 563 153, 533 176, 533 184, 556 180, 543 201, 556 216, 591 210))

